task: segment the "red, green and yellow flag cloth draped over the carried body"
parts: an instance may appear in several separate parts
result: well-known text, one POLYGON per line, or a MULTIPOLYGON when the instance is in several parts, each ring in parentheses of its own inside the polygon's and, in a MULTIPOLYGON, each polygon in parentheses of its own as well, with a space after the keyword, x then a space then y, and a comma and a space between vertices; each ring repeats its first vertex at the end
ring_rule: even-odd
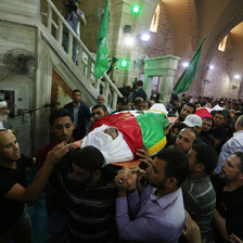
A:
POLYGON ((98 120, 90 129, 102 125, 113 126, 123 137, 136 156, 137 149, 148 146, 151 155, 156 154, 166 144, 165 130, 169 122, 164 113, 120 112, 98 120))

